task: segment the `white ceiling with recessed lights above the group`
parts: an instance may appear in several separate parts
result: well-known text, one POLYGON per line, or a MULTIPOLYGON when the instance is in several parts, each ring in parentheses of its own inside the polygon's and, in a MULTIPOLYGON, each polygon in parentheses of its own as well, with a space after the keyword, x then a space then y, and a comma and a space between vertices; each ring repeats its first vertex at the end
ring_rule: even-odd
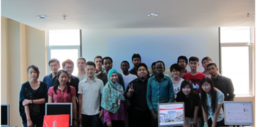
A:
POLYGON ((254 26, 254 0, 2 0, 2 16, 40 30, 254 26), (148 13, 158 17, 147 17, 148 13), (246 13, 250 13, 246 17, 246 13), (49 19, 37 19, 47 15, 49 19), (63 20, 62 15, 67 15, 63 20))

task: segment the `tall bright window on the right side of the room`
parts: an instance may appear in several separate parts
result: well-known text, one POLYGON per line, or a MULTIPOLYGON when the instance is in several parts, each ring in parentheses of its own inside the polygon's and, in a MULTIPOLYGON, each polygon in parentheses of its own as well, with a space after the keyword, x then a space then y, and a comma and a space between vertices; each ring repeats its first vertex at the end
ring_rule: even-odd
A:
POLYGON ((221 74, 231 78, 236 95, 253 94, 253 28, 221 27, 221 74))

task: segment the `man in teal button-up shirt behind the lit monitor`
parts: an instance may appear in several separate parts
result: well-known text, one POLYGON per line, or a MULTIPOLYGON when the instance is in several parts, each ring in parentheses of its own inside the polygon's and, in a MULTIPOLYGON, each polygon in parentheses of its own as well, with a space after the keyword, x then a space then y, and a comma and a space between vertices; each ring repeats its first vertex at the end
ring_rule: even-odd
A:
POLYGON ((153 127, 158 127, 157 104, 174 102, 173 81, 164 75, 165 66, 163 61, 155 63, 156 74, 150 77, 147 85, 147 104, 151 111, 153 127))

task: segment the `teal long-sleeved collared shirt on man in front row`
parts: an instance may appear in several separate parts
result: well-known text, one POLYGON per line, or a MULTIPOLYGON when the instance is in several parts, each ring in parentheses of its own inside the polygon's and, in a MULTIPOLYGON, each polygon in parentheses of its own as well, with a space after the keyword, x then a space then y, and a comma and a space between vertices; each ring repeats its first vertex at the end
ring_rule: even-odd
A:
POLYGON ((159 83, 156 76, 150 77, 147 85, 147 104, 149 110, 154 109, 157 113, 158 103, 170 102, 174 102, 172 79, 164 75, 164 78, 159 83))

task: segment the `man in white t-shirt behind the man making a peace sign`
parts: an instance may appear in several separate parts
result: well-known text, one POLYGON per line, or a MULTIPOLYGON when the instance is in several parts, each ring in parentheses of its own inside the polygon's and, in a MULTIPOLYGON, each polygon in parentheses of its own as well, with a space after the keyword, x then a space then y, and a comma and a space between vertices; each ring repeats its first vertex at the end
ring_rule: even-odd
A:
POLYGON ((124 79, 124 89, 125 89, 124 91, 126 91, 126 88, 127 88, 128 84, 132 80, 137 78, 136 75, 133 75, 133 74, 129 73, 129 71, 128 71, 129 68, 130 68, 130 64, 129 64, 128 61, 124 60, 124 61, 121 62, 121 69, 123 71, 123 73, 121 73, 121 74, 122 74, 123 79, 124 79))

